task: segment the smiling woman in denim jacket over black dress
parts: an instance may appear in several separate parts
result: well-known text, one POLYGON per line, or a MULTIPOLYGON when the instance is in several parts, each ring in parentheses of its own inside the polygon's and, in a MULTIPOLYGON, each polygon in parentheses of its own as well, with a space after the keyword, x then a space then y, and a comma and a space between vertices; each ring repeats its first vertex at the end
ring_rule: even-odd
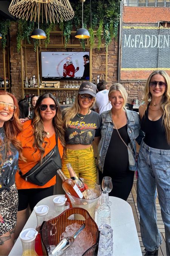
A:
POLYGON ((110 87, 108 97, 111 110, 103 112, 101 139, 98 145, 98 166, 100 184, 104 176, 110 176, 113 182, 111 196, 127 200, 137 170, 136 141, 140 144, 140 120, 136 112, 127 110, 127 92, 119 83, 110 87))

